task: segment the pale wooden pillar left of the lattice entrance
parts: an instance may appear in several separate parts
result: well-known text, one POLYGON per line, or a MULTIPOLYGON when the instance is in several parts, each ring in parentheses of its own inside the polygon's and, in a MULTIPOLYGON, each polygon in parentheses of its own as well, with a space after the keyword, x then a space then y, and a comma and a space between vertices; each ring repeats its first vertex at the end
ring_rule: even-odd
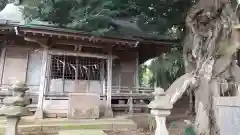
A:
POLYGON ((43 57, 42 57, 42 70, 41 70, 41 80, 40 80, 40 87, 39 87, 39 94, 38 94, 38 105, 37 110, 35 113, 35 117, 42 119, 43 116, 43 101, 44 101, 44 93, 46 90, 46 83, 47 83, 47 63, 48 63, 48 48, 44 47, 43 50, 43 57))

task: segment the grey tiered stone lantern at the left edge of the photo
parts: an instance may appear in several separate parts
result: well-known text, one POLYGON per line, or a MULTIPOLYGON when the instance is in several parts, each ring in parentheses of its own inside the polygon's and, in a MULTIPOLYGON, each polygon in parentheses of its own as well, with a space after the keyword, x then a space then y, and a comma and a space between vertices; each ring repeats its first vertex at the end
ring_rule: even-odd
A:
POLYGON ((5 135, 17 135, 17 125, 20 117, 31 115, 31 112, 26 107, 30 104, 30 100, 24 97, 27 90, 28 88, 25 84, 17 82, 9 88, 9 91, 13 92, 13 96, 3 99, 0 115, 7 117, 5 135))

